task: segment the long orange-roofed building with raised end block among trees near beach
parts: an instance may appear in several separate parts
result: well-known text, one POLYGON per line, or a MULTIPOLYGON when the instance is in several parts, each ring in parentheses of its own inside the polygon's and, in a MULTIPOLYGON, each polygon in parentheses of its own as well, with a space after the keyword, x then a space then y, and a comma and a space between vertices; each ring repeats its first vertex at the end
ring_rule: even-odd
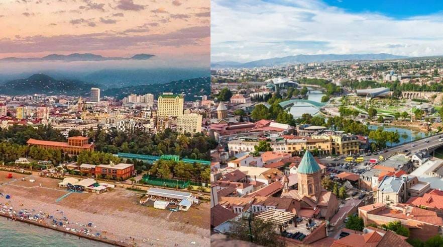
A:
POLYGON ((26 143, 29 146, 39 146, 48 149, 60 149, 69 155, 77 155, 81 151, 93 151, 94 144, 88 143, 89 138, 83 136, 72 136, 68 138, 68 142, 60 141, 44 141, 30 138, 26 143))

